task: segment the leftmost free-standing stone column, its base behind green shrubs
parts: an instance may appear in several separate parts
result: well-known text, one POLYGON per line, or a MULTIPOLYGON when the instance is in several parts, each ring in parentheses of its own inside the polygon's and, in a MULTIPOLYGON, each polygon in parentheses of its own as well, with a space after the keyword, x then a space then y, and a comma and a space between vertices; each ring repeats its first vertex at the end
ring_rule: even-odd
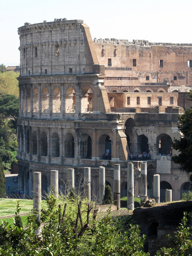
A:
MULTIPOLYGON (((40 221, 40 209, 41 209, 41 172, 34 172, 33 176, 33 208, 35 209, 36 219, 40 221)), ((36 234, 39 235, 40 228, 37 228, 36 234)))

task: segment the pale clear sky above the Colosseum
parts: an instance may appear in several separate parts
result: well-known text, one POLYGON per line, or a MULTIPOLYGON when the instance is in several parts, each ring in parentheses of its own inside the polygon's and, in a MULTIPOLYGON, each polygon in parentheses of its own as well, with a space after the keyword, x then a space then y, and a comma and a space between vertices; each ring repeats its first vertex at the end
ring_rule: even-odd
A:
POLYGON ((82 19, 92 38, 192 43, 192 0, 1 0, 0 64, 19 65, 25 22, 82 19))

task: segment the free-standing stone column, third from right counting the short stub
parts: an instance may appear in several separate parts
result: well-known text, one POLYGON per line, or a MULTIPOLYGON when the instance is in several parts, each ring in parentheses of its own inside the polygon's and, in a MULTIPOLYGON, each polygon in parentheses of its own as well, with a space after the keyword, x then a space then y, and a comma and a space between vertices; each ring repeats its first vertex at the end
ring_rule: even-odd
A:
POLYGON ((141 204, 147 200, 147 163, 141 163, 141 204))

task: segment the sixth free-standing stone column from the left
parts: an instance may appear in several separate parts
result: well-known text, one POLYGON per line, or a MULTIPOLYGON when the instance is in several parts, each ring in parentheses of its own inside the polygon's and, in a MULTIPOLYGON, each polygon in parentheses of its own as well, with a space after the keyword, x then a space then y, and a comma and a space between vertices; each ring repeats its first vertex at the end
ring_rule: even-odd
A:
POLYGON ((114 205, 120 209, 120 164, 114 164, 114 180, 113 180, 113 198, 114 205))

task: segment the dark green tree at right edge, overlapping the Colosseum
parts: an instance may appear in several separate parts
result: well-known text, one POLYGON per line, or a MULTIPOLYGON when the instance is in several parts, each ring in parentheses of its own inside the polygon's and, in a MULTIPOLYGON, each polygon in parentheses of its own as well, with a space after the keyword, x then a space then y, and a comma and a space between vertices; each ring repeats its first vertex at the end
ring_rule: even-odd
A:
MULTIPOLYGON (((189 100, 192 101, 192 90, 188 92, 189 100)), ((172 161, 180 164, 180 169, 192 171, 192 107, 185 109, 185 113, 179 116, 179 131, 183 134, 180 138, 174 139, 172 147, 179 151, 179 155, 172 156, 172 161)), ((192 181, 192 175, 190 175, 192 181)))

